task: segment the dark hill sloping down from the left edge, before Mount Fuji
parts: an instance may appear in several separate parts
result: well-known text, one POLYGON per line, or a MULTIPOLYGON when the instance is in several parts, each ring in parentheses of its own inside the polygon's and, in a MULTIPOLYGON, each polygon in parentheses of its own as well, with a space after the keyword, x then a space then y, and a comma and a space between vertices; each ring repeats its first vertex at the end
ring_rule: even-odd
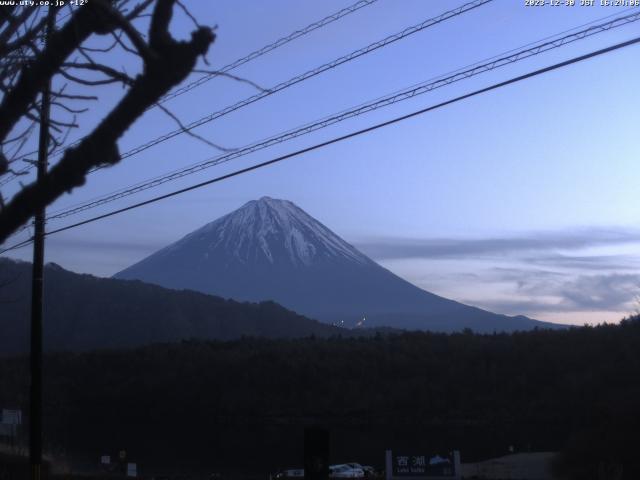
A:
MULTIPOLYGON (((30 263, 0 258, 0 355, 28 350, 30 282, 30 263)), ((338 331, 273 302, 241 303, 139 281, 80 275, 55 264, 45 271, 44 311, 47 350, 338 331)))

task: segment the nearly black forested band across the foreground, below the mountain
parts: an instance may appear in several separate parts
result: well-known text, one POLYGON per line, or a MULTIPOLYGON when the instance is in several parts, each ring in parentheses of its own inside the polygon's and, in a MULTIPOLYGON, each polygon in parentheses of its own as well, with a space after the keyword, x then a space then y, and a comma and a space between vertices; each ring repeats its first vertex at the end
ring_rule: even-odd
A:
MULTIPOLYGON (((473 461, 513 445, 563 450, 566 478, 596 478, 589 472, 607 465, 640 478, 637 319, 516 334, 183 342, 52 354, 46 366, 47 438, 89 458, 126 445, 148 469, 265 472, 299 464, 302 427, 320 424, 331 429, 333 463, 380 466, 390 447, 455 447, 473 461)), ((0 361, 0 404, 26 398, 26 368, 0 361)))

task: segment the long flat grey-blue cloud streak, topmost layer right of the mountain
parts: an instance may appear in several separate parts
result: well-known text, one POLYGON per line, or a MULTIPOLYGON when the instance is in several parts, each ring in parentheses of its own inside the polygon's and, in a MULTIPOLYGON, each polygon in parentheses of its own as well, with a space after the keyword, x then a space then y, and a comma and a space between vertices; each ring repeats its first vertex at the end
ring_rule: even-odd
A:
MULTIPOLYGON (((378 260, 403 258, 463 259, 533 252, 579 250, 589 247, 640 243, 640 231, 622 228, 584 228, 559 232, 532 232, 514 237, 484 239, 377 238, 357 247, 378 260)), ((593 257, 591 257, 593 258, 593 257)), ((582 257, 586 262, 586 257, 582 257)), ((536 259, 533 258, 533 261, 536 259)), ((542 261, 544 259, 538 259, 542 261)), ((560 259, 562 261, 562 259, 560 259)), ((608 260, 611 260, 610 258, 608 260)), ((568 257, 565 259, 568 262, 568 257)), ((593 263, 597 263, 594 260, 593 263)), ((577 264, 577 262, 576 262, 577 264)))

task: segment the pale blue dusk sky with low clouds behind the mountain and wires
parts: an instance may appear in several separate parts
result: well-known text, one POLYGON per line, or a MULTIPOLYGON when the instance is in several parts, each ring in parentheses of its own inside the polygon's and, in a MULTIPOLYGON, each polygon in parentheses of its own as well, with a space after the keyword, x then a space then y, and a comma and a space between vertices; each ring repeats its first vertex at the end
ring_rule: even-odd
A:
MULTIPOLYGON (((187 1, 218 25, 216 69, 353 2, 187 1)), ((406 26, 453 0, 379 0, 234 71, 270 87, 406 26)), ((578 2, 579 4, 580 2, 578 2)), ((197 130, 240 147, 593 20, 621 7, 525 7, 495 0, 197 130)), ((628 13, 628 12, 627 12, 628 13)), ((640 22, 594 36, 226 165, 84 217, 267 160, 524 72, 629 39, 640 22)), ((174 31, 193 28, 176 13, 174 31)), ((50 237, 47 260, 111 275, 248 200, 294 201, 385 267, 437 294, 565 323, 617 321, 640 293, 637 91, 640 47, 570 66, 170 201, 50 237)), ((120 59, 118 59, 120 61, 120 59)), ((121 60, 129 71, 136 63, 121 60)), ((195 77, 194 77, 195 78, 195 77)), ((255 93, 217 78, 167 104, 184 122, 255 93)), ((82 135, 119 98, 82 120, 82 135)), ((150 111, 126 151, 175 128, 150 111)), ((92 175, 64 208, 215 155, 182 135, 92 175)), ((7 192, 10 193, 9 190, 7 192)), ((66 222, 52 223, 50 228, 66 222)), ((18 237, 20 238, 20 237, 18 237)), ((12 253, 28 259, 28 249, 12 253)))

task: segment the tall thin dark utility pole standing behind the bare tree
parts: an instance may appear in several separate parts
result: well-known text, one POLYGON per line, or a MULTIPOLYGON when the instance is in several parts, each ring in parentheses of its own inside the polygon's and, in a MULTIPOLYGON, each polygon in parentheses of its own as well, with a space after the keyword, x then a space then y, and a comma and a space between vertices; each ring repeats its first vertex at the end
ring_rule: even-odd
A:
MULTIPOLYGON (((47 12, 45 48, 55 26, 55 10, 47 12)), ((42 88, 40 132, 38 138, 38 177, 41 182, 47 172, 49 151, 49 115, 51 110, 51 78, 42 88)), ((29 463, 31 480, 41 480, 42 473, 42 294, 44 284, 44 218, 42 207, 34 217, 33 276, 31 280, 31 390, 29 404, 29 463)))

